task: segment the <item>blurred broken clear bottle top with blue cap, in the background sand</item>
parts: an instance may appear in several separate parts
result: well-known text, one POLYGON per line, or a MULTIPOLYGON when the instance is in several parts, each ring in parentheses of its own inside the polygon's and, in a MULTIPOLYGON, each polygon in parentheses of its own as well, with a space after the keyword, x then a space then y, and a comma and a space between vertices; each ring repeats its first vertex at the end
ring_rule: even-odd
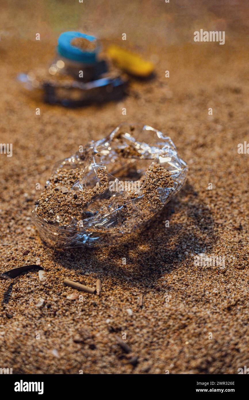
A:
POLYGON ((100 48, 94 36, 64 32, 58 38, 52 64, 21 73, 18 80, 50 104, 74 107, 118 100, 125 94, 127 81, 108 73, 106 61, 98 58, 100 48))

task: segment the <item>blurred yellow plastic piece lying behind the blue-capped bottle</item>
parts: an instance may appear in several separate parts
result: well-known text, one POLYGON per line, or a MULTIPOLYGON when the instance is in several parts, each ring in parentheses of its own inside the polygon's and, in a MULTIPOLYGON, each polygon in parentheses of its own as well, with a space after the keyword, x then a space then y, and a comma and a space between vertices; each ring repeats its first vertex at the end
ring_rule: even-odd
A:
POLYGON ((143 60, 138 54, 132 53, 119 46, 112 45, 107 54, 117 66, 131 75, 146 77, 154 70, 150 61, 143 60))

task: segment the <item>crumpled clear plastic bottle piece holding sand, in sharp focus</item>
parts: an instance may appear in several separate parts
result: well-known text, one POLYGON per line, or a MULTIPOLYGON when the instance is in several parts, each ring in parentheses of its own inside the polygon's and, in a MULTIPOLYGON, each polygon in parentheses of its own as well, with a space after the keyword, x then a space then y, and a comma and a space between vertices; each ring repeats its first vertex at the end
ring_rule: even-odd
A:
POLYGON ((119 244, 171 200, 186 172, 171 138, 122 124, 56 164, 33 210, 35 225, 58 248, 119 244))

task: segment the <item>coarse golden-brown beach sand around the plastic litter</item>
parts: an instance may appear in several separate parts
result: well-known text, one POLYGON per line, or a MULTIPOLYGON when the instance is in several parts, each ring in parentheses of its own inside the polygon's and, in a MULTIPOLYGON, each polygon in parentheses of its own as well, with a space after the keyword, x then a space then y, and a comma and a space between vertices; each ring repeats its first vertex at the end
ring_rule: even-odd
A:
POLYGON ((236 374, 249 365, 249 154, 237 151, 249 140, 248 9, 236 4, 2 5, 0 142, 12 143, 13 154, 0 154, 0 272, 40 261, 47 279, 32 270, 0 281, 0 367, 13 374, 236 374), (17 74, 48 64, 58 35, 79 28, 100 37, 103 51, 110 42, 124 45, 126 32, 127 46, 155 63, 156 77, 132 79, 126 98, 88 108, 50 106, 23 92, 17 74), (225 31, 225 44, 195 43, 200 28, 225 31), (121 122, 171 136, 189 165, 186 184, 126 244, 49 248, 31 212, 52 166, 121 122), (225 257, 224 268, 195 265, 200 253, 225 257), (65 278, 91 287, 100 279, 101 296, 70 300, 76 290, 65 278))

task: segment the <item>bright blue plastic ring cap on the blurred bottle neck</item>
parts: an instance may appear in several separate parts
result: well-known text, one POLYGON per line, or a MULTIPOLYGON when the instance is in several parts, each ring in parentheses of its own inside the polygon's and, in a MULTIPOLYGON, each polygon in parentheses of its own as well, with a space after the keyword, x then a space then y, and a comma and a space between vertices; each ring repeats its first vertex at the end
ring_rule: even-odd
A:
POLYGON ((96 40, 94 36, 89 36, 84 33, 80 32, 64 32, 58 38, 58 46, 57 51, 58 53, 69 60, 74 60, 78 62, 84 62, 86 64, 94 64, 96 63, 96 55, 97 50, 90 52, 90 51, 83 51, 78 47, 72 46, 71 41, 74 38, 84 38, 93 42, 96 40))

